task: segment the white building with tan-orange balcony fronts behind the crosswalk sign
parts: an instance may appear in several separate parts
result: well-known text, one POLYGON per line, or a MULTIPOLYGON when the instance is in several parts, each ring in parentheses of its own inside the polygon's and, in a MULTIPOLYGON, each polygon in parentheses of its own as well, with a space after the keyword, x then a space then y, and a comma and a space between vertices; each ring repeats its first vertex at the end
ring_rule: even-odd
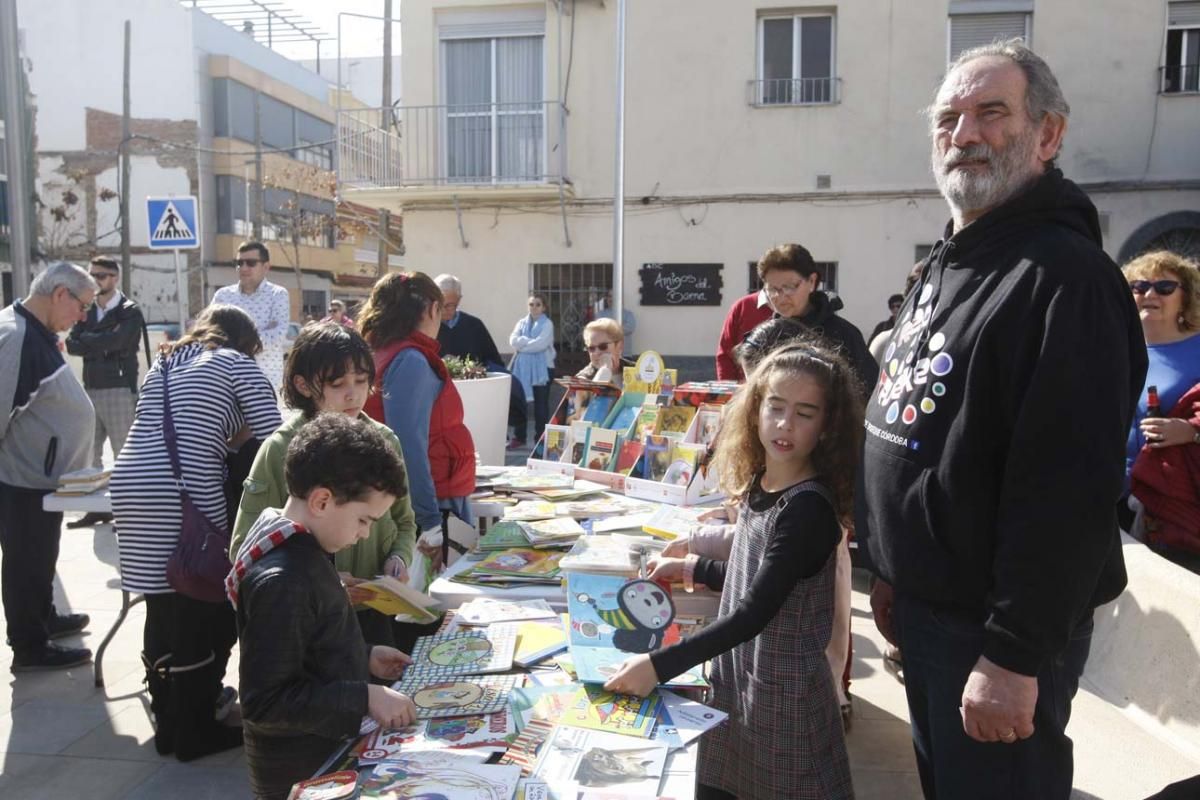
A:
MULTIPOLYGON (((132 293, 151 321, 197 313, 236 281, 240 241, 271 249, 292 318, 365 295, 365 265, 340 222, 332 180, 338 101, 331 83, 176 0, 20 0, 31 64, 47 258, 120 252, 124 22, 132 26, 132 293), (145 198, 197 196, 200 247, 178 287, 172 253, 151 251, 145 198)), ((374 275, 374 264, 371 265, 374 275)))

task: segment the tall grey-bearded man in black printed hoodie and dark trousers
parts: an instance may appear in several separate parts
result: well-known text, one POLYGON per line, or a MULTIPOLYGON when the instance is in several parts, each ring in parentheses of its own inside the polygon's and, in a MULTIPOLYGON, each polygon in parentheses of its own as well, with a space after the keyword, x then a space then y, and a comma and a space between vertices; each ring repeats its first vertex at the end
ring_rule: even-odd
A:
POLYGON ((1068 113, 1019 41, 952 66, 930 108, 952 221, 868 404, 857 535, 926 798, 1069 796, 1092 612, 1126 584, 1146 351, 1096 207, 1055 167, 1068 113))

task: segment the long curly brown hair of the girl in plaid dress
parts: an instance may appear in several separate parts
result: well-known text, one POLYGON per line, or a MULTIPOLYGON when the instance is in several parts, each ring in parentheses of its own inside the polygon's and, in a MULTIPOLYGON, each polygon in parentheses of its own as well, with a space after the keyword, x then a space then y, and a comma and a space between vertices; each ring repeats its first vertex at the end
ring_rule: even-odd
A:
POLYGON ((776 373, 810 375, 824 393, 824 429, 810 458, 821 481, 833 492, 838 518, 847 521, 853 510, 863 402, 846 360, 816 342, 790 342, 773 350, 730 402, 714 456, 721 488, 731 498, 744 500, 766 468, 758 413, 767 386, 776 373))

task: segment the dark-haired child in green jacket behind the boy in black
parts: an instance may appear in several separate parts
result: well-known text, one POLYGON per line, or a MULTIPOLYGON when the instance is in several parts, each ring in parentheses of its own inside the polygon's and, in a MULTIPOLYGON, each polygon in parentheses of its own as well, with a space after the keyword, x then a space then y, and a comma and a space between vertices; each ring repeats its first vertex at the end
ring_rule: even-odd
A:
MULTIPOLYGON (((370 421, 371 417, 362 413, 362 405, 373 383, 374 360, 371 348, 356 331, 325 323, 310 325, 300 332, 292 344, 283 373, 283 399, 289 408, 300 413, 281 425, 254 457, 250 475, 242 485, 238 519, 230 537, 230 558, 236 555, 246 533, 263 510, 278 509, 287 500, 283 456, 296 431, 323 411, 370 421)), ((396 434, 380 422, 371 423, 403 458, 396 434)), ((361 600, 354 594, 355 583, 379 575, 404 581, 415 541, 416 521, 406 489, 396 498, 388 513, 371 525, 370 536, 334 557, 334 564, 342 573, 342 583, 349 588, 352 601, 361 600)), ((367 642, 402 650, 412 649, 412 642, 420 632, 414 625, 396 624, 390 616, 370 608, 359 612, 359 625, 367 642)))

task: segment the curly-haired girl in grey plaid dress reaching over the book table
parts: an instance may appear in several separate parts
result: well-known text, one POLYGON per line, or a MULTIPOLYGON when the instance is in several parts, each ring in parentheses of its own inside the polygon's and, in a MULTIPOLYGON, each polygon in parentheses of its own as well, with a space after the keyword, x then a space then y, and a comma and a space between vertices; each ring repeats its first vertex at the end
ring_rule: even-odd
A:
POLYGON ((721 589, 719 616, 629 658, 605 688, 644 697, 714 660, 714 705, 730 722, 701 741, 697 798, 853 798, 824 649, 862 426, 840 356, 808 344, 772 353, 732 401, 715 455, 722 488, 740 500, 728 560, 653 565, 652 578, 721 589))

